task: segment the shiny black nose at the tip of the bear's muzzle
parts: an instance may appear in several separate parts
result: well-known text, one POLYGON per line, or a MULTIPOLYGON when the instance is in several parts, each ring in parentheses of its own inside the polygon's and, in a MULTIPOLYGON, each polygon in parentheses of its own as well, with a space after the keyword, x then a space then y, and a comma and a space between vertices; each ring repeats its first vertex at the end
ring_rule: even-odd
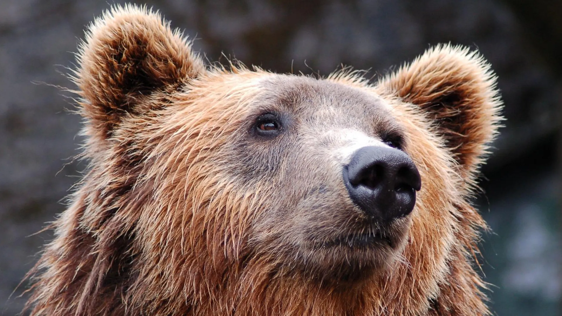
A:
POLYGON ((422 180, 405 152, 388 147, 363 147, 343 168, 351 200, 367 215, 391 220, 411 213, 422 180))

